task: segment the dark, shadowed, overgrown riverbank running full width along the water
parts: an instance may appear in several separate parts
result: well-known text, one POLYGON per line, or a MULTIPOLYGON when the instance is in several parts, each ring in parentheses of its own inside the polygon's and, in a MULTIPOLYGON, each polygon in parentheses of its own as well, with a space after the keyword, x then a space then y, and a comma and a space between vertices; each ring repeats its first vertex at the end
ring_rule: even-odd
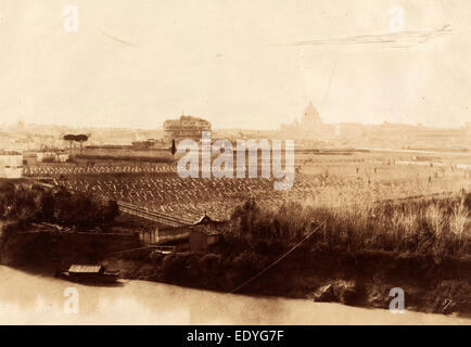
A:
MULTIPOLYGON (((1 264, 52 277, 64 264, 101 262, 107 270, 118 270, 124 280, 231 293, 288 249, 282 243, 255 241, 251 246, 236 247, 233 241, 222 237, 205 250, 158 255, 149 248, 140 249, 137 240, 120 240, 122 235, 113 234, 98 236, 14 234, 1 247, 1 264), (119 240, 110 243, 110 237, 119 240), (128 242, 133 246, 127 246, 128 242), (106 255, 129 248, 138 250, 106 255)), ((471 317, 469 273, 471 257, 435 259, 432 255, 384 250, 335 252, 324 244, 307 242, 236 293, 387 309, 393 299, 390 291, 399 287, 405 293, 407 310, 471 317)))

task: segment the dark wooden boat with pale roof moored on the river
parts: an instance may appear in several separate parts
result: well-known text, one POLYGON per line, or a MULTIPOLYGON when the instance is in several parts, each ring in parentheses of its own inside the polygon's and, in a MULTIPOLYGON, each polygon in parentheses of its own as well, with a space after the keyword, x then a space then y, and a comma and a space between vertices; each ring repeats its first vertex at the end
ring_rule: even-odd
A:
POLYGON ((119 271, 105 271, 101 265, 71 265, 67 270, 58 270, 55 275, 73 282, 115 283, 119 271))

